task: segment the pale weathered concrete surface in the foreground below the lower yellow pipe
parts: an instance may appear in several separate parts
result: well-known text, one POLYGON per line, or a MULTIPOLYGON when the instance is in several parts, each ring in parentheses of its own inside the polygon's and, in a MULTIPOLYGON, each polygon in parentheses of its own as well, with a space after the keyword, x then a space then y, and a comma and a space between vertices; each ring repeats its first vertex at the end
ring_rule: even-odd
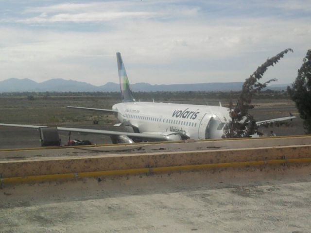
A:
POLYGON ((311 165, 27 183, 0 189, 1 233, 310 232, 311 165))

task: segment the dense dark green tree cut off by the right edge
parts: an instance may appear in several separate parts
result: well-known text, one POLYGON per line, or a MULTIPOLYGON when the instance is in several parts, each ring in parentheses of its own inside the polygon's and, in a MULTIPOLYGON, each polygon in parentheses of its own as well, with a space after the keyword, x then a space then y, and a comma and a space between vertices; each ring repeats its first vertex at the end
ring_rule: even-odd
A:
POLYGON ((298 69, 298 75, 287 87, 291 99, 295 102, 300 117, 304 119, 303 126, 306 133, 311 133, 311 50, 307 51, 303 64, 298 69))

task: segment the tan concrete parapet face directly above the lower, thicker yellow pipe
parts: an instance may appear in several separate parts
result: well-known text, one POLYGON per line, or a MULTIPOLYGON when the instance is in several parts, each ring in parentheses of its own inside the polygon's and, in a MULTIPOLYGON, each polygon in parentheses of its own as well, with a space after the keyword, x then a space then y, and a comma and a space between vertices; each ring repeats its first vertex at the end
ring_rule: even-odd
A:
POLYGON ((310 158, 311 145, 144 154, 101 154, 96 156, 81 156, 78 158, 1 161, 0 173, 6 178, 25 177, 148 167, 278 160, 283 159, 284 156, 286 159, 310 158))

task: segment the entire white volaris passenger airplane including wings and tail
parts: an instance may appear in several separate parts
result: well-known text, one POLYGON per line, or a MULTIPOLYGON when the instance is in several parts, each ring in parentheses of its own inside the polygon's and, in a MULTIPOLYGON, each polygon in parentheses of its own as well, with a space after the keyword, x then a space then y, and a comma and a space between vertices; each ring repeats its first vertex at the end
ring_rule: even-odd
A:
MULTIPOLYGON (((57 127, 58 131, 79 133, 98 133, 111 137, 113 143, 134 143, 138 141, 177 141, 185 139, 218 139, 224 135, 224 128, 229 123, 230 109, 220 106, 176 104, 163 102, 140 102, 134 99, 130 83, 121 58, 117 52, 117 64, 122 102, 112 109, 67 106, 68 108, 84 109, 112 113, 129 132, 79 129, 57 127)), ((293 119, 287 116, 257 122, 283 121, 293 119)), ((26 127, 43 129, 46 126, 4 124, 0 126, 26 127)))

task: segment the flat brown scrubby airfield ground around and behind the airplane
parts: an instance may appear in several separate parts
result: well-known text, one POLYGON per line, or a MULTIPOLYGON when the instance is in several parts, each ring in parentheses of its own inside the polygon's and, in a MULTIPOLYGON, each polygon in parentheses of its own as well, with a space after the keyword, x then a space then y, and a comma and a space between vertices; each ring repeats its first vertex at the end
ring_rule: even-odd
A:
MULTIPOLYGON (((228 99, 210 98, 210 97, 191 97, 187 98, 187 93, 172 95, 168 97, 157 94, 155 101, 174 102, 188 104, 209 104, 219 105, 221 101, 223 106, 228 106, 228 99)), ((141 101, 152 101, 153 93, 148 93, 147 97, 141 101)), ((92 95, 91 93, 78 93, 75 96, 35 96, 34 100, 29 100, 27 96, 1 96, 0 97, 0 122, 11 124, 35 124, 48 126, 77 127, 90 129, 105 129, 124 131, 122 127, 114 127, 113 124, 118 123, 118 119, 111 114, 103 114, 101 112, 69 109, 66 106, 85 106, 94 108, 110 109, 115 103, 120 102, 117 94, 109 95, 92 95), (98 125, 93 124, 93 120, 99 121, 98 125)), ((295 108, 294 102, 288 98, 264 98, 256 99, 252 102, 255 108, 250 113, 256 120, 265 120, 276 117, 289 116, 291 112, 297 116, 293 121, 289 121, 286 125, 261 127, 260 132, 268 135, 270 131, 274 131, 276 135, 297 135, 304 134, 302 120, 295 108)), ((59 132, 63 145, 69 139, 68 133, 59 132)), ((72 133, 71 139, 90 140, 95 144, 111 143, 108 136, 80 133, 72 133)), ((35 129, 0 127, 0 149, 4 148, 29 148, 39 147, 39 133, 35 129)))

